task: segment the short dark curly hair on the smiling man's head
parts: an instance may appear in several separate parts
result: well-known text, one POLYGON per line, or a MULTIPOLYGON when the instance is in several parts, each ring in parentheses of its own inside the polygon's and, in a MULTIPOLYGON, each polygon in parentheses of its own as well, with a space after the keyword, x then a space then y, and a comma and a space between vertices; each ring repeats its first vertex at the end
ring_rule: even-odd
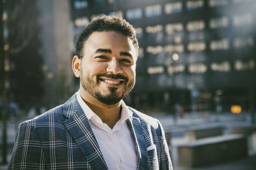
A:
POLYGON ((117 31, 127 36, 132 41, 132 45, 136 49, 138 55, 138 39, 134 27, 129 24, 124 18, 116 16, 101 15, 96 17, 84 27, 76 40, 76 55, 81 58, 84 55, 83 48, 85 41, 93 32, 102 31, 117 31))

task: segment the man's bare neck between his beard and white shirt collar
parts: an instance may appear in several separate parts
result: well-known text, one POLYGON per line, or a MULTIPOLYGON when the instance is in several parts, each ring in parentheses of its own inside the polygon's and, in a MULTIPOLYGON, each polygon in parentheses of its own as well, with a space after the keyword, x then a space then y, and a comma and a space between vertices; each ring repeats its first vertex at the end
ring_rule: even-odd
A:
POLYGON ((121 117, 122 101, 116 104, 104 104, 92 97, 88 92, 80 89, 83 101, 91 108, 91 110, 100 117, 103 123, 113 129, 116 122, 121 117))

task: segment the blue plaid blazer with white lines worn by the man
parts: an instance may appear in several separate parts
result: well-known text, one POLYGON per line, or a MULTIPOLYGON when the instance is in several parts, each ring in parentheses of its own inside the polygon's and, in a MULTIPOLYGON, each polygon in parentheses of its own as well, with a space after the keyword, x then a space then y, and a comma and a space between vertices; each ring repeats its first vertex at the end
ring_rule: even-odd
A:
MULTIPOLYGON (((133 114, 127 123, 135 143, 137 169, 172 169, 159 121, 129 109, 133 114)), ((8 169, 108 169, 76 94, 19 125, 8 169)))

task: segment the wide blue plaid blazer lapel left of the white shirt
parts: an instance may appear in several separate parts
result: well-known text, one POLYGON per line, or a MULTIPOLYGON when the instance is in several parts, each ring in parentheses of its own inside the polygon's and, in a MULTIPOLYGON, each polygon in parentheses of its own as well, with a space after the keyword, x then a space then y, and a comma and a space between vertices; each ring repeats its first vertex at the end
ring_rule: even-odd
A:
POLYGON ((63 124, 76 140, 92 169, 108 169, 88 119, 77 102, 76 94, 68 101, 63 110, 63 115, 68 119, 63 124))

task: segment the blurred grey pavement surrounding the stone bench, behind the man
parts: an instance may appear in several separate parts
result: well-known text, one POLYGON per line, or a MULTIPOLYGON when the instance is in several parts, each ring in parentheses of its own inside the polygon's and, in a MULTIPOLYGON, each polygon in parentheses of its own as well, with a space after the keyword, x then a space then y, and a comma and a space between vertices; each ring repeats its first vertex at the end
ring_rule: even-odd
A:
MULTIPOLYGON (((195 126, 223 126, 226 127, 225 133, 227 133, 227 128, 232 126, 248 126, 251 124, 250 114, 243 113, 241 115, 232 115, 231 113, 190 113, 185 114, 182 118, 173 118, 172 115, 168 114, 158 114, 151 115, 159 119, 164 129, 172 129, 172 162, 174 170, 255 170, 256 169, 256 152, 252 151, 252 143, 249 143, 249 155, 246 158, 238 159, 230 162, 225 162, 221 164, 214 164, 205 167, 180 167, 177 162, 177 144, 184 142, 184 131, 189 127, 195 126)), ((26 119, 26 118, 25 118, 26 119)), ((15 139, 15 132, 17 126, 23 120, 8 121, 7 134, 8 134, 8 145, 13 144, 15 139)), ((2 131, 0 122, 0 131, 2 131)), ((2 143, 2 133, 0 133, 0 145, 2 143)), ((1 154, 1 150, 0 150, 1 154)), ((8 161, 12 155, 12 147, 8 148, 8 161)), ((1 161, 1 155, 0 155, 1 161)), ((0 170, 7 169, 7 165, 0 164, 0 170)))

